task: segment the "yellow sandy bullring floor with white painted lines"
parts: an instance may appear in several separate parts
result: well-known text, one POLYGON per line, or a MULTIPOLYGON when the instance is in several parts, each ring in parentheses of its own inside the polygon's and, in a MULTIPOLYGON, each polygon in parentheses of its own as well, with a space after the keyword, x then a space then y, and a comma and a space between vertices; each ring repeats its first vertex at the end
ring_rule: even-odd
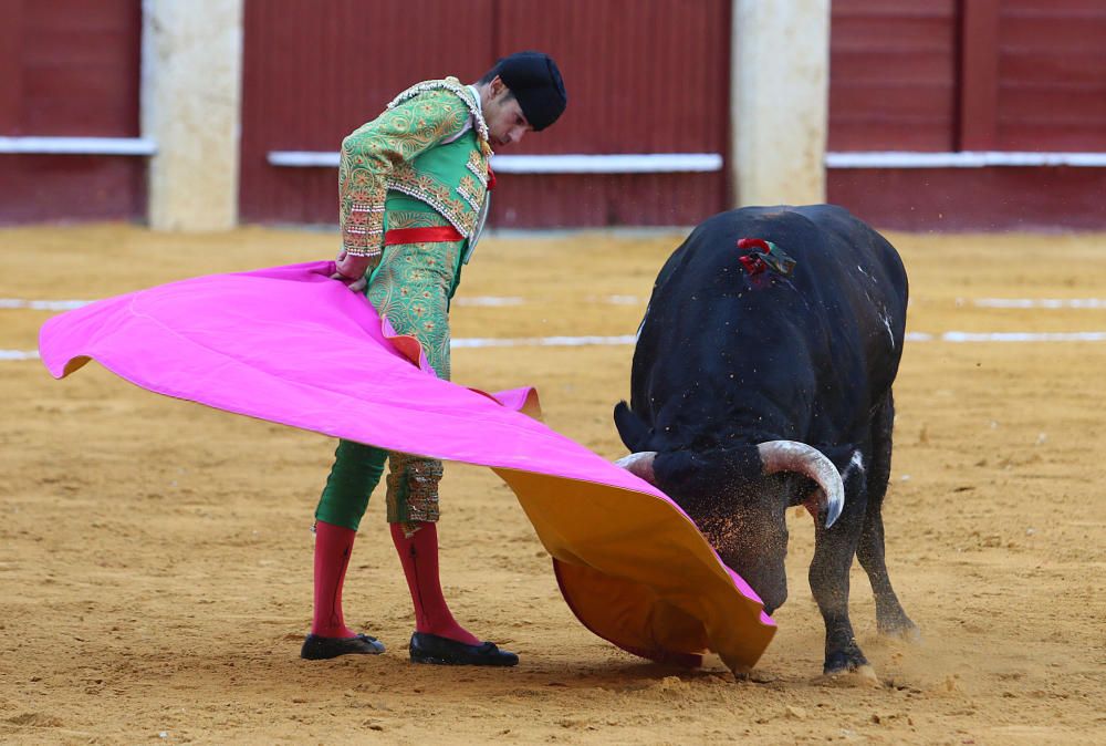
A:
MULTIPOLYGON (((611 408, 628 394, 633 346, 618 338, 681 238, 486 239, 455 300, 455 380, 536 385, 551 426, 624 455, 611 408)), ((382 495, 345 599, 347 621, 388 653, 301 661, 311 512, 334 444, 97 365, 56 382, 20 358, 58 308, 31 301, 330 258, 335 237, 0 231, 0 740, 1106 742, 1106 237, 889 238, 912 287, 887 555, 922 639, 876 634, 854 564, 872 685, 820 675, 813 529, 797 510, 780 632, 735 682, 717 659, 667 669, 583 629, 511 493, 453 464, 447 595, 520 666, 408 662, 410 601, 382 495)))

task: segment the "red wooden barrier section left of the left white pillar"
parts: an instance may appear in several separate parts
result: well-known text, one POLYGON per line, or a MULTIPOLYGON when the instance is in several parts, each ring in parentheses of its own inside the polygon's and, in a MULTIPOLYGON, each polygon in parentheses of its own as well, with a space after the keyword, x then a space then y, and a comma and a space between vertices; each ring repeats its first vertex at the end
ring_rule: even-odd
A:
MULTIPOLYGON (((0 0, 0 135, 138 135, 139 0, 0 0)), ((0 224, 140 218, 146 163, 0 154, 0 224)))

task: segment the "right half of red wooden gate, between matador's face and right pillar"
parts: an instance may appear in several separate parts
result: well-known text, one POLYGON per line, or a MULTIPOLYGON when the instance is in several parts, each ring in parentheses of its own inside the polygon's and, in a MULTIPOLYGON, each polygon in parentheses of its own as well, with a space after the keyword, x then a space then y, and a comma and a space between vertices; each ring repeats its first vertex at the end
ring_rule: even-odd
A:
MULTIPOLYGON (((730 3, 724 0, 512 0, 497 55, 557 60, 570 104, 515 153, 722 153, 729 149, 730 3)), ((511 175, 492 199, 500 227, 691 225, 728 205, 708 174, 511 175)))

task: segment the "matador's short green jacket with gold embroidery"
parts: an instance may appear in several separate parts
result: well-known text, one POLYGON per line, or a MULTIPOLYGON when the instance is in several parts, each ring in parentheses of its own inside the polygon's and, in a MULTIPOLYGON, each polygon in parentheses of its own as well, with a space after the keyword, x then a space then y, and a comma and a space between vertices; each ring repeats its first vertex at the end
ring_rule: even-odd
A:
POLYGON ((470 89, 456 77, 407 89, 342 141, 342 248, 379 257, 389 189, 426 203, 471 238, 488 190, 490 157, 488 126, 470 89))

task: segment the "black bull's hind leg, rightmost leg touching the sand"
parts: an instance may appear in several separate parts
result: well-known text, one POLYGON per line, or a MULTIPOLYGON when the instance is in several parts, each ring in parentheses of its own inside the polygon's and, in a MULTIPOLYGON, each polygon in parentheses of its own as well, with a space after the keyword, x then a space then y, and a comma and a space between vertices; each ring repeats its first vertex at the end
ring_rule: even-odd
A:
POLYGON ((884 496, 891 472, 891 428, 895 424, 895 403, 890 392, 872 423, 872 464, 868 468, 868 506, 864 515, 856 558, 868 573, 872 592, 876 599, 876 625, 883 634, 916 636, 918 628, 902 611, 891 588, 884 560, 884 496))

